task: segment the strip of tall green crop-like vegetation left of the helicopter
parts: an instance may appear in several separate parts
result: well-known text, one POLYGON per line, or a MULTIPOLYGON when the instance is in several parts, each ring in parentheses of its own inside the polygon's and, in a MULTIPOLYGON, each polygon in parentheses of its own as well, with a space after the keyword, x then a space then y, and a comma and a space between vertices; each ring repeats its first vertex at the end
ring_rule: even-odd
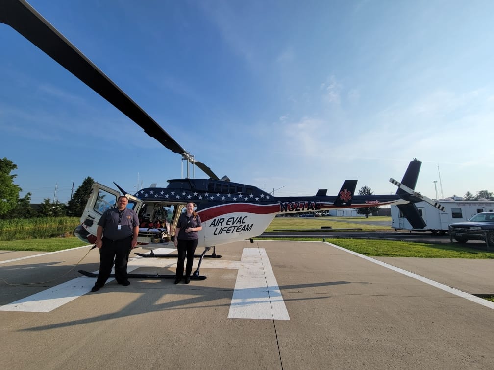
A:
POLYGON ((0 220, 0 241, 72 236, 78 217, 0 220))

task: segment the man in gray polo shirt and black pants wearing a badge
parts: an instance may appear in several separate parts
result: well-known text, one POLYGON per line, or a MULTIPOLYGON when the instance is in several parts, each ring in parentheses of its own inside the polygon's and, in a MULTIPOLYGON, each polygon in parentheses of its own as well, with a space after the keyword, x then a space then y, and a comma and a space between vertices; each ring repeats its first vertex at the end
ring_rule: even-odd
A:
POLYGON ((130 285, 127 279, 127 263, 130 250, 137 245, 139 219, 134 210, 127 208, 128 199, 120 196, 117 208, 106 210, 98 221, 96 247, 99 249, 99 274, 91 292, 103 287, 112 272, 115 259, 115 280, 120 285, 130 285))

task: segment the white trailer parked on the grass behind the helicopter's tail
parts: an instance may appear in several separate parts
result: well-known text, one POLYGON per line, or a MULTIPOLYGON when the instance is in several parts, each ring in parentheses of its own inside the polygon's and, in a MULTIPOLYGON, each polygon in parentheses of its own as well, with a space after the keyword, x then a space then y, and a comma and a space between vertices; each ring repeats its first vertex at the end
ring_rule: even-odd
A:
POLYGON ((437 209, 426 202, 415 203, 415 206, 424 219, 424 228, 413 228, 396 205, 391 206, 391 227, 395 230, 430 231, 433 234, 444 234, 453 222, 467 221, 480 212, 494 212, 493 200, 454 200, 448 198, 439 200, 444 211, 437 209))

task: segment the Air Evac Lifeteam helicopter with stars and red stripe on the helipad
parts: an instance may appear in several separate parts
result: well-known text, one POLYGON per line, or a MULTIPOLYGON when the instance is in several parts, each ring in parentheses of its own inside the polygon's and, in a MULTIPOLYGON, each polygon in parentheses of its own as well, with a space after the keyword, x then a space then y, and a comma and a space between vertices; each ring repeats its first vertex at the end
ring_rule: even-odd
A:
MULTIPOLYGON (((82 52, 48 23, 25 0, 3 0, 0 5, 0 22, 5 23, 26 37, 57 63, 78 77, 87 86, 106 99, 115 108, 139 125, 146 134, 156 139, 165 148, 182 156, 187 163, 185 178, 168 180, 166 187, 152 185, 134 194, 120 186, 114 190, 95 183, 92 186, 81 224, 74 231, 83 241, 94 244, 96 228, 103 212, 115 207, 121 195, 128 198, 141 222, 138 245, 150 249, 149 255, 141 257, 163 257, 153 250, 166 247, 174 239, 174 229, 187 202, 193 202, 200 215, 203 229, 199 232, 198 247, 204 248, 199 265, 192 278, 199 279, 199 267, 211 248, 209 257, 216 255, 218 245, 256 237, 264 232, 277 215, 318 212, 332 208, 379 207, 398 205, 414 228, 425 226, 415 203, 426 201, 437 208, 441 205, 414 191, 421 162, 414 158, 401 182, 390 179, 398 186, 396 194, 355 195, 357 180, 345 180, 336 195, 328 196, 327 190, 319 190, 314 196, 276 197, 264 190, 247 184, 231 182, 227 176, 219 178, 204 163, 182 148, 166 131, 107 75, 94 65, 82 52), (208 179, 190 177, 189 165, 197 166, 208 179)), ((166 257, 172 257, 166 255, 166 257)), ((85 271, 82 273, 88 274, 85 271)), ((156 275, 153 275, 156 276, 156 275)))

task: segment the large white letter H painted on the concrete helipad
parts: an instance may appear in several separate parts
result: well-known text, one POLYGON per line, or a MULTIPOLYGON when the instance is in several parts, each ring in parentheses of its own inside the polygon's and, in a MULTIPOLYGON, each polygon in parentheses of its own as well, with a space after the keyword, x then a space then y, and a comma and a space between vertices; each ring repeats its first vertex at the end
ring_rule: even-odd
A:
MULTIPOLYGON (((170 254, 163 248, 155 253, 170 254)), ((131 258, 128 271, 139 267, 163 267, 163 259, 131 258), (137 264, 138 263, 138 264, 137 264)), ((169 261, 167 261, 169 262, 169 261)), ((195 260, 197 265, 197 259, 195 260)), ((176 263, 176 262, 174 262, 176 263)), ((278 282, 263 248, 244 248, 240 261, 203 260, 205 268, 238 269, 229 318, 289 320, 278 282)), ((95 271, 97 273, 97 271, 95 271)), ((108 282, 114 280, 109 279, 108 282)), ((82 276, 42 292, 0 306, 0 311, 50 312, 91 290, 94 279, 82 276)))

